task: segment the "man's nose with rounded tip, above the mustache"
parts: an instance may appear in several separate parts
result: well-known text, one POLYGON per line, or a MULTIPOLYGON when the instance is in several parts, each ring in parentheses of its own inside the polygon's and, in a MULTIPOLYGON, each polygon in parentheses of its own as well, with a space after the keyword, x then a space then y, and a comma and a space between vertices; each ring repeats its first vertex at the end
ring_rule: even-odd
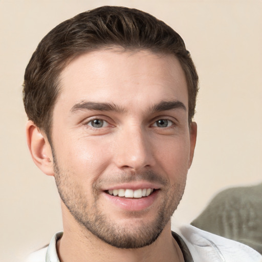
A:
POLYGON ((155 165, 154 145, 145 130, 139 126, 129 126, 119 133, 114 157, 118 168, 138 172, 155 165))

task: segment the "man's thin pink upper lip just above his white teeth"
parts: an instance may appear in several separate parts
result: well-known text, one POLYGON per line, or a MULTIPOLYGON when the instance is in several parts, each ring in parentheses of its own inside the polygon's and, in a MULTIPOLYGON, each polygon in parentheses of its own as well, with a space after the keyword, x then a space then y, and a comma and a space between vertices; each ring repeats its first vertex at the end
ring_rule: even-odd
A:
POLYGON ((110 185, 102 188, 103 191, 105 190, 114 190, 114 189, 143 189, 143 188, 153 188, 153 189, 160 189, 159 184, 146 182, 146 181, 139 181, 139 182, 129 182, 129 183, 122 183, 117 185, 110 185))

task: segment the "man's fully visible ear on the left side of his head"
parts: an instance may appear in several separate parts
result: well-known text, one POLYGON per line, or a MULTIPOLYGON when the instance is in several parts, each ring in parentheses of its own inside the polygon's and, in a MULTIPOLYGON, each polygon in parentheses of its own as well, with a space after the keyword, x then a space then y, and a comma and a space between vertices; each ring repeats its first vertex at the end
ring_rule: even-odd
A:
POLYGON ((43 136, 33 121, 26 125, 27 145, 34 163, 48 176, 54 176, 53 155, 46 136, 43 136))

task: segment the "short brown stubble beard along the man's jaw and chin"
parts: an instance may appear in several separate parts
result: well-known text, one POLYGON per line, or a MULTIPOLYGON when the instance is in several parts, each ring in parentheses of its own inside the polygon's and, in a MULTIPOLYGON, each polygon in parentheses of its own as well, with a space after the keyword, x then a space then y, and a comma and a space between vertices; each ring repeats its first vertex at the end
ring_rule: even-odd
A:
MULTIPOLYGON (((169 222, 174 210, 177 209, 184 193, 186 178, 180 181, 181 183, 172 186, 171 189, 168 189, 166 181, 166 186, 161 189, 166 192, 162 192, 164 196, 162 205, 159 207, 155 219, 149 223, 147 221, 140 221, 140 223, 138 223, 139 225, 134 223, 132 228, 127 228, 121 226, 117 221, 110 220, 110 217, 107 217, 107 215, 99 209, 95 183, 92 192, 94 201, 92 205, 88 205, 82 185, 77 184, 77 182, 73 180, 74 176, 70 176, 70 173, 61 171, 55 157, 53 159, 55 182, 60 198, 75 221, 81 225, 84 230, 88 230, 103 242, 116 248, 136 249, 154 243, 169 222)), ((160 178, 159 175, 152 171, 140 174, 139 176, 150 177, 150 180, 152 176, 160 178)), ((129 212, 129 215, 133 217, 141 216, 141 212, 129 212)), ((128 226, 130 227, 130 224, 128 226)))

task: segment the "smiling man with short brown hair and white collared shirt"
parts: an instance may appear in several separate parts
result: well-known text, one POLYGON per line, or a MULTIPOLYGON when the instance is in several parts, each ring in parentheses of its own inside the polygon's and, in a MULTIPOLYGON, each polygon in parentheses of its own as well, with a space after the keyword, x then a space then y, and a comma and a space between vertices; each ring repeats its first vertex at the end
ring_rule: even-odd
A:
POLYGON ((42 39, 25 73, 27 139, 55 178, 64 230, 30 261, 260 261, 191 226, 171 232, 197 92, 182 38, 142 11, 97 8, 42 39))

